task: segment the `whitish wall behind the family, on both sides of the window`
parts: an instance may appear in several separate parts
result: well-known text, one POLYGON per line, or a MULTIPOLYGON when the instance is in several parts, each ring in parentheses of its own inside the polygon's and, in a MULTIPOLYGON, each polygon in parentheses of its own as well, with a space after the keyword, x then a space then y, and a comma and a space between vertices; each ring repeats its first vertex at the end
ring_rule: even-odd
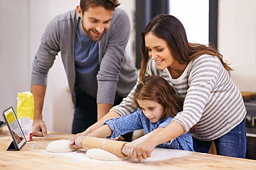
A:
MULTIPOLYGON (((75 8, 79 0, 1 0, 0 112, 16 111, 18 92, 30 90, 31 62, 46 24, 75 8)), ((120 0, 134 28, 135 0, 120 0)), ((231 62, 233 80, 241 91, 256 91, 256 1, 219 0, 218 48, 231 62)), ((134 31, 127 52, 134 57, 134 31)), ((0 120, 3 120, 0 115, 0 120)), ((50 69, 43 120, 48 130, 71 132, 73 104, 60 56, 50 69)))

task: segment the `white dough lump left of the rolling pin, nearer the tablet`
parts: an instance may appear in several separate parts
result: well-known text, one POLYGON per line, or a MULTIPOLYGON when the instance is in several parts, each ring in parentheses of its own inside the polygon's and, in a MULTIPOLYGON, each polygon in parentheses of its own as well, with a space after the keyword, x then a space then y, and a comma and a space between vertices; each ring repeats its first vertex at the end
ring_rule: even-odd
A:
POLYGON ((47 152, 64 153, 74 152, 77 149, 70 147, 70 140, 55 140, 46 147, 47 152))

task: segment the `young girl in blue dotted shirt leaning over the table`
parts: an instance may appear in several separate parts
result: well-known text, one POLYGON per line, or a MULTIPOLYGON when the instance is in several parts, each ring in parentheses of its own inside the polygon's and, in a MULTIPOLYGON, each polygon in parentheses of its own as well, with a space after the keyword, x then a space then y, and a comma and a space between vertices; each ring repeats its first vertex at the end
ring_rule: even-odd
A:
MULTIPOLYGON (((121 118, 107 120, 101 128, 90 133, 89 136, 110 137, 116 140, 120 135, 141 129, 147 134, 171 123, 176 112, 181 111, 183 105, 174 88, 165 79, 157 76, 145 77, 138 84, 132 99, 138 108, 137 111, 121 118)), ((81 147, 81 144, 82 137, 78 137, 75 145, 81 147)), ((158 147, 193 151, 191 133, 182 134, 158 147)))

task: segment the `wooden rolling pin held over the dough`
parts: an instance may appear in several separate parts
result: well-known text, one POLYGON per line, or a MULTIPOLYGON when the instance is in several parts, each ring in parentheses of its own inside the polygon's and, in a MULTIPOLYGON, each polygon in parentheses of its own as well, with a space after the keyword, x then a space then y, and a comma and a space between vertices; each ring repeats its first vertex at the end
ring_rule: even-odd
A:
POLYGON ((127 155, 122 153, 122 148, 127 142, 122 142, 118 140, 107 140, 98 137, 88 137, 85 136, 82 140, 82 149, 103 149, 110 152, 117 157, 127 157, 127 155))

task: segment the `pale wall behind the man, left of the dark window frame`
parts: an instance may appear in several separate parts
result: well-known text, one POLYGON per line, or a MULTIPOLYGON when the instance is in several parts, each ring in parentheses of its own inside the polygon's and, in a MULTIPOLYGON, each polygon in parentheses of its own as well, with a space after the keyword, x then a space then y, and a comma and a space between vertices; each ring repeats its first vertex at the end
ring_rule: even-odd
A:
MULTIPOLYGON (((0 109, 14 106, 18 92, 30 91, 31 64, 48 22, 57 14, 72 10, 80 0, 1 0, 0 21, 0 109), (11 11, 10 11, 11 6, 11 11), (8 17, 4 17, 8 15, 8 17), (12 79, 11 79, 12 78, 12 79), (6 84, 3 82, 6 81, 6 84)), ((133 24, 135 0, 119 1, 133 24)), ((134 31, 127 45, 133 58, 134 31)), ((48 74, 48 87, 43 106, 43 120, 48 130, 71 132, 73 103, 68 80, 60 58, 48 74)), ((0 116, 0 120, 3 120, 0 116)))

